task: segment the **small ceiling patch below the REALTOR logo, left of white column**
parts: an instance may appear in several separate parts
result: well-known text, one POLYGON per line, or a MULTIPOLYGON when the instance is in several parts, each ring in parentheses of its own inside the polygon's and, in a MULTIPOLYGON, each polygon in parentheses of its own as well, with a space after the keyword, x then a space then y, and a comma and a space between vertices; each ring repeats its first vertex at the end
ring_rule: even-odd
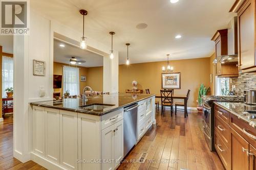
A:
POLYGON ((3 52, 13 54, 13 36, 0 35, 0 45, 3 46, 3 52))

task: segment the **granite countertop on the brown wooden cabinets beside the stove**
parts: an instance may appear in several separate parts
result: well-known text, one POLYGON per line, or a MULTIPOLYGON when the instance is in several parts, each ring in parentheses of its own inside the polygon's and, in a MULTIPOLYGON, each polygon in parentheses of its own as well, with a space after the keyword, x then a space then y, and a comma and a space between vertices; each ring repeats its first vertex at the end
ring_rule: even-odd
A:
POLYGON ((256 128, 256 118, 249 118, 249 113, 247 110, 256 110, 256 105, 247 105, 245 103, 239 102, 214 102, 216 105, 222 107, 225 110, 228 110, 232 114, 243 119, 245 122, 249 123, 250 126, 256 128))

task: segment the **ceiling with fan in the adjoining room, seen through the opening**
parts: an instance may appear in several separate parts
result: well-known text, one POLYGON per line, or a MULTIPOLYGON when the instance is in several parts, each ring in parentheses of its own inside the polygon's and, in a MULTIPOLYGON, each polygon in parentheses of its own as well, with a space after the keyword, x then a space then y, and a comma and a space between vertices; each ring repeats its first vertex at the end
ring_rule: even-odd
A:
POLYGON ((53 61, 70 64, 69 60, 71 59, 71 57, 75 57, 78 61, 86 61, 84 63, 77 64, 78 66, 82 66, 82 67, 103 66, 102 56, 87 50, 82 50, 79 47, 54 39, 53 61), (59 46, 60 44, 65 45, 65 47, 59 46))

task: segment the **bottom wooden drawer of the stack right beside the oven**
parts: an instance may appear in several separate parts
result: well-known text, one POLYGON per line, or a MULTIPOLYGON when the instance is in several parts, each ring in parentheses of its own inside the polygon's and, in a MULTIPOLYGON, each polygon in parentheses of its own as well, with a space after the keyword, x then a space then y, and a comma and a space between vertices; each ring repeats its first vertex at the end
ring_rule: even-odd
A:
POLYGON ((226 169, 228 169, 229 150, 227 149, 224 142, 221 140, 218 132, 215 132, 215 148, 222 160, 223 165, 226 169))

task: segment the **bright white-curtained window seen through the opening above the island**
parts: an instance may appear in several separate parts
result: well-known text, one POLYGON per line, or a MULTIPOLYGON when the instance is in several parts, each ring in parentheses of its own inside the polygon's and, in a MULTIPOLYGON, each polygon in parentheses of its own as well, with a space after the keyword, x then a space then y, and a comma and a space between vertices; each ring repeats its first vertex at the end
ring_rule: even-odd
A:
POLYGON ((79 94, 79 68, 63 66, 63 93, 67 90, 70 95, 79 94))

